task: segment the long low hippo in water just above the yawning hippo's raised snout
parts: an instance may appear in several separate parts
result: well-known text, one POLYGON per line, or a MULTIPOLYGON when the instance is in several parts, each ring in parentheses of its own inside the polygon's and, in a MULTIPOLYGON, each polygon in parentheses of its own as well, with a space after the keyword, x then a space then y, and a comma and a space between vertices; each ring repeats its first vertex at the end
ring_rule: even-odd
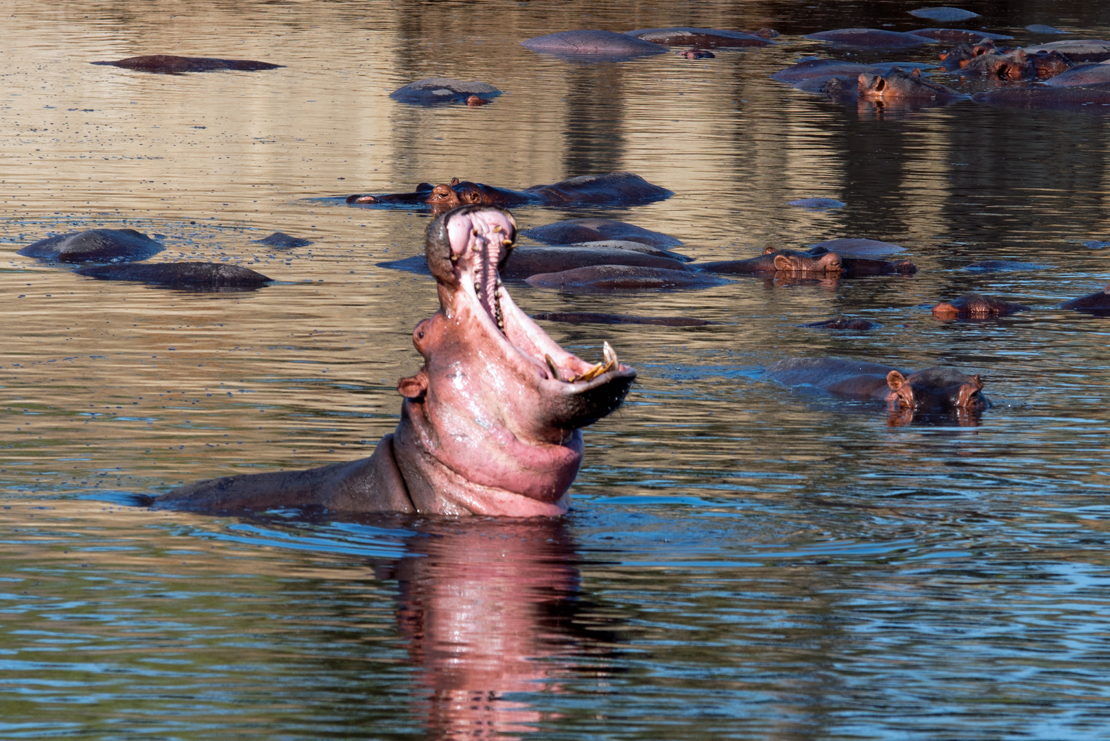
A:
POLYGON ((446 211, 464 203, 496 206, 630 206, 657 201, 674 196, 674 191, 653 186, 632 172, 605 172, 578 176, 551 186, 531 186, 509 190, 452 178, 450 183, 421 183, 412 193, 349 196, 347 203, 426 204, 434 211, 446 211))

